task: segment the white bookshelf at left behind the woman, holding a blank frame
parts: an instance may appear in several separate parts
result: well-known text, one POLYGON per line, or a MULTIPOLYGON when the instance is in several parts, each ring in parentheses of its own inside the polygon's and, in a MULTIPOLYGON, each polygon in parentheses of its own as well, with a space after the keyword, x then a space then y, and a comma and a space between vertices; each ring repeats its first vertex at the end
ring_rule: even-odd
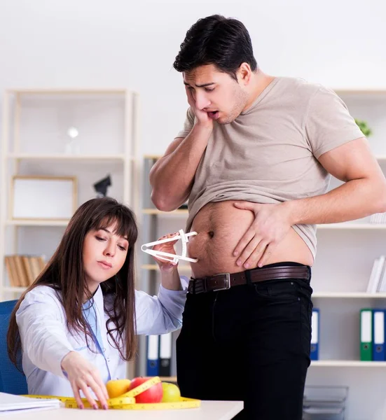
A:
POLYGON ((13 220, 12 176, 76 176, 78 207, 96 196, 92 183, 110 174, 108 195, 137 213, 139 94, 127 89, 9 89, 4 93, 2 127, 0 299, 4 300, 24 290, 10 286, 4 256, 43 253, 49 258, 68 223, 13 220), (69 148, 71 139, 65 131, 71 125, 78 129, 75 150, 69 148), (45 245, 45 235, 56 236, 57 241, 45 245))

